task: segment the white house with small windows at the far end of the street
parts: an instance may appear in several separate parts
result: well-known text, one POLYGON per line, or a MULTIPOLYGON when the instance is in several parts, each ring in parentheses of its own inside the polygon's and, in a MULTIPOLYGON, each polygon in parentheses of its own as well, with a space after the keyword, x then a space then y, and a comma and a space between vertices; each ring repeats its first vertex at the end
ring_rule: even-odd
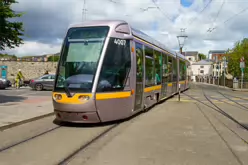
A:
POLYGON ((196 76, 206 78, 213 74, 213 62, 210 60, 201 60, 191 65, 191 79, 196 81, 196 76))

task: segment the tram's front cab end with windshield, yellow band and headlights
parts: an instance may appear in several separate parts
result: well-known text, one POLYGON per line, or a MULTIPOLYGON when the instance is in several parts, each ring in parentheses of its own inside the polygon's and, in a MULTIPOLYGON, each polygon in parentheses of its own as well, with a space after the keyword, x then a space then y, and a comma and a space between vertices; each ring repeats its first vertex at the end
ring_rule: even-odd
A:
POLYGON ((111 31, 110 26, 68 30, 53 90, 56 119, 97 123, 130 115, 130 40, 111 37, 111 31))

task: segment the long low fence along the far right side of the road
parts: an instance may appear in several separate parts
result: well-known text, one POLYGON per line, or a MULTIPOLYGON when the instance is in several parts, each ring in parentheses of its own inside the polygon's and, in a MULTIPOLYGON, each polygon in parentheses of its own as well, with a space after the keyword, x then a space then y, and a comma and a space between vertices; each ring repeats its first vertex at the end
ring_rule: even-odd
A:
POLYGON ((225 86, 225 87, 233 88, 233 89, 248 89, 248 80, 243 80, 243 82, 241 82, 241 80, 236 80, 236 81, 230 80, 230 79, 224 80, 224 77, 213 78, 213 77, 196 76, 196 82, 208 83, 208 84, 213 84, 213 85, 218 85, 218 86, 225 86))

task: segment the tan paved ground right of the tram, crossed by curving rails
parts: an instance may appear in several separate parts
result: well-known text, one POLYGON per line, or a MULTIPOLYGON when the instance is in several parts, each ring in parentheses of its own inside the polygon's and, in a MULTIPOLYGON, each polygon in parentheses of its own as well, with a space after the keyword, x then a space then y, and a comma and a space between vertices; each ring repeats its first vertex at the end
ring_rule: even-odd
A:
MULTIPOLYGON (((196 86, 192 85, 185 94, 211 106, 204 100, 202 89, 196 86)), ((215 87, 202 85, 201 88, 207 90, 209 97, 217 96, 215 87)), ((247 130, 183 93, 180 100, 175 96, 132 122, 125 122, 89 146, 70 164, 248 164, 247 130)), ((212 101, 223 110, 230 108, 227 103, 212 101)), ((247 122, 248 112, 244 112, 242 118, 238 115, 240 109, 234 106, 232 112, 227 112, 237 120, 247 122)))

